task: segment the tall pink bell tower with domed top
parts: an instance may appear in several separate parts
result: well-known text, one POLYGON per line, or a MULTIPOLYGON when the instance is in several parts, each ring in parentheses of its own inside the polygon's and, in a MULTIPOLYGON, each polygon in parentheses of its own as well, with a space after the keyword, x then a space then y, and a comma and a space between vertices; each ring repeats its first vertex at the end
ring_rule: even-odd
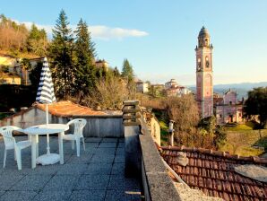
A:
POLYGON ((202 27, 198 34, 196 58, 196 101, 201 118, 213 115, 212 45, 208 30, 202 27))

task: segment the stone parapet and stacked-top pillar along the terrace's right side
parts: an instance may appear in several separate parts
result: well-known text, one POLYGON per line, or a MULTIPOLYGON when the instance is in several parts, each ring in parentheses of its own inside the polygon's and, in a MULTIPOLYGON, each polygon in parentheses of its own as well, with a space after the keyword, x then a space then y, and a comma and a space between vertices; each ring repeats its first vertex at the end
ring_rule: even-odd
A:
POLYGON ((151 129, 141 115, 138 101, 127 101, 125 104, 125 176, 141 176, 145 200, 179 201, 177 189, 168 176, 151 129))

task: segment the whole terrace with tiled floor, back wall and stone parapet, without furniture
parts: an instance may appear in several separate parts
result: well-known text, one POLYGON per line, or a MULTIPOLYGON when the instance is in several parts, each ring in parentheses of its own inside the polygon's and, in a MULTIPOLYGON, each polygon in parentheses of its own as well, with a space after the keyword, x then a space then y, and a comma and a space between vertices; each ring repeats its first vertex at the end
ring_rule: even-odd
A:
MULTIPOLYGON (((81 149, 81 156, 77 157, 71 143, 65 141, 64 164, 38 165, 31 169, 31 149, 23 149, 22 170, 17 169, 13 152, 9 151, 5 169, 0 169, 0 200, 177 200, 177 190, 152 139, 154 131, 151 133, 145 121, 141 125, 140 113, 135 112, 140 111, 138 106, 128 105, 126 110, 130 113, 123 116, 66 117, 51 112, 52 123, 86 119, 83 129, 86 151, 81 149), (133 117, 136 119, 131 119, 133 117)), ((32 107, 5 118, 1 126, 20 127, 23 122, 23 127, 31 127, 41 123, 43 119, 39 117, 42 116, 42 110, 32 107)), ((15 138, 21 141, 27 135, 15 138)), ((159 142, 160 138, 154 140, 159 142)), ((40 137, 39 154, 46 153, 46 147, 46 137, 40 137)), ((58 153, 57 135, 50 136, 50 147, 51 153, 58 153)), ((3 166, 2 138, 0 150, 3 166)))

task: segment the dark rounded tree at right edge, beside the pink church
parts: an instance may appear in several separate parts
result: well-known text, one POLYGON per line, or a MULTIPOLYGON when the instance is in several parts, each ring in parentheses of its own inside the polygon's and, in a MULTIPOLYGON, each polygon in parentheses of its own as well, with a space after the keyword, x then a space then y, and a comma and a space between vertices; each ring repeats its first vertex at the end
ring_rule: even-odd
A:
POLYGON ((248 92, 245 100, 245 117, 252 118, 258 115, 260 126, 266 127, 267 124, 267 87, 254 88, 248 92))

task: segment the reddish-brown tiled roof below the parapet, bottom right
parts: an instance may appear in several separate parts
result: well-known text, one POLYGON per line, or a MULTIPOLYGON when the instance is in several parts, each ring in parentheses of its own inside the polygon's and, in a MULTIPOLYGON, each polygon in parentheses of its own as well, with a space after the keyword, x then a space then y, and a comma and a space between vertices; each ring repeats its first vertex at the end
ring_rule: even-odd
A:
POLYGON ((225 200, 266 200, 267 183, 246 178, 234 168, 243 164, 267 166, 267 159, 242 157, 203 148, 161 147, 161 155, 185 183, 210 197, 225 200), (184 167, 177 163, 179 152, 189 159, 184 167))

